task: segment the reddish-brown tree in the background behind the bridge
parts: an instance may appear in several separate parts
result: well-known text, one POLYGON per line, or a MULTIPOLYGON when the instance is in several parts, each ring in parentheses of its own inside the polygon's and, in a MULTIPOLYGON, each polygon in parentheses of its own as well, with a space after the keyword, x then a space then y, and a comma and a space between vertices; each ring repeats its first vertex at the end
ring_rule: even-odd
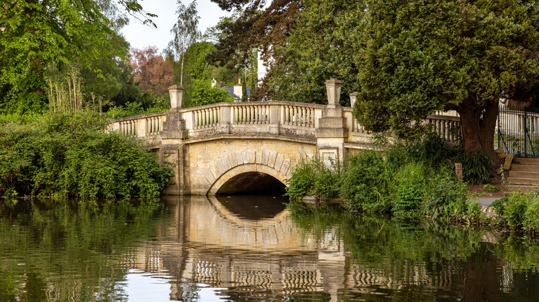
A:
POLYGON ((129 65, 133 68, 135 83, 140 90, 151 90, 158 96, 168 93, 172 85, 172 64, 158 54, 158 48, 148 46, 142 50, 133 48, 129 65))

